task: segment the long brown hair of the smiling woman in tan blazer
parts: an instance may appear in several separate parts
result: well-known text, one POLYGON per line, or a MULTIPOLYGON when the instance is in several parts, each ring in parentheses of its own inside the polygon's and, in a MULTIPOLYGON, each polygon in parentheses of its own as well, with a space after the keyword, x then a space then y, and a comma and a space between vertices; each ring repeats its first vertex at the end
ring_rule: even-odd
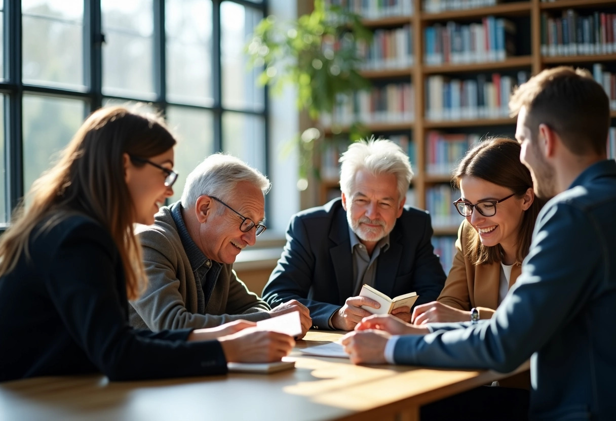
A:
MULTIPOLYGON (((469 150, 454 170, 452 175, 454 188, 460 188, 462 177, 469 176, 506 187, 517 197, 524 196, 529 187, 533 186, 533 180, 529 169, 520 162, 520 150, 521 146, 513 139, 496 137, 484 140, 469 150)), ((517 262, 522 262, 529 254, 535 220, 543 203, 535 196, 529 209, 524 212, 517 242, 517 262)), ((466 257, 474 265, 501 262, 503 247, 500 244, 492 247, 484 246, 475 230, 469 231, 469 236, 471 236, 471 247, 466 251, 466 257)), ((461 241, 464 240, 461 238, 461 241)))

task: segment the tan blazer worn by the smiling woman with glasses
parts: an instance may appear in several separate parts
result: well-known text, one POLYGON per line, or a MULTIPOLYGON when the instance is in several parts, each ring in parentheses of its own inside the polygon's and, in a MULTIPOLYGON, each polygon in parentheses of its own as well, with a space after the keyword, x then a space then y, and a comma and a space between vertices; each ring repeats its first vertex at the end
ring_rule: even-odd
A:
MULTIPOLYGON (((458 228, 456 240, 456 255, 453 257, 452 268, 449 271, 445 287, 440 292, 437 301, 453 308, 469 311, 479 310, 479 319, 490 319, 498 307, 498 287, 500 284, 500 263, 490 265, 473 265, 464 257, 470 247, 469 232, 474 230, 466 219, 458 228)), ((516 283, 522 265, 520 262, 511 268, 509 289, 516 283)), ((522 372, 500 380, 503 387, 530 388, 529 372, 522 372)))

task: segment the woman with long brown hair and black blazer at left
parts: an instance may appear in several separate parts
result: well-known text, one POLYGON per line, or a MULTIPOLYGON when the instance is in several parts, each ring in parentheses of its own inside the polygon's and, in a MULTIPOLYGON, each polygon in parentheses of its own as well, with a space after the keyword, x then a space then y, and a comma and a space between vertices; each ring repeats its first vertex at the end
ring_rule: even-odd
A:
POLYGON ((95 111, 34 182, 0 239, 0 381, 102 371, 110 379, 221 374, 227 361, 276 361, 288 335, 137 331, 128 301, 147 281, 134 223, 173 194, 176 140, 155 116, 95 111))

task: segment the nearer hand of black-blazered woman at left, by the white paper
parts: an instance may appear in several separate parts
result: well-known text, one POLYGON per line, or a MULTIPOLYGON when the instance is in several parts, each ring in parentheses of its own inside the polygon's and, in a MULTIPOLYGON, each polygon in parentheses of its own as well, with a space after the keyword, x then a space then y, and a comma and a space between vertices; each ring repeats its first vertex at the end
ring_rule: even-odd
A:
POLYGON ((278 332, 245 329, 232 335, 218 338, 227 362, 270 363, 280 361, 295 345, 289 335, 278 332))

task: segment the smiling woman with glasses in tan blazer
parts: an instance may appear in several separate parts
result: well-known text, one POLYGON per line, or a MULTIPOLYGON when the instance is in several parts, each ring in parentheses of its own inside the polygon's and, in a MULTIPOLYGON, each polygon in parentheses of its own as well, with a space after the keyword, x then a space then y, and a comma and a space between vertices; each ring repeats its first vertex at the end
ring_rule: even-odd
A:
POLYGON ((415 324, 489 319, 520 275, 543 201, 535 197, 520 145, 507 138, 479 143, 453 173, 461 223, 453 265, 437 301, 419 305, 415 324))

